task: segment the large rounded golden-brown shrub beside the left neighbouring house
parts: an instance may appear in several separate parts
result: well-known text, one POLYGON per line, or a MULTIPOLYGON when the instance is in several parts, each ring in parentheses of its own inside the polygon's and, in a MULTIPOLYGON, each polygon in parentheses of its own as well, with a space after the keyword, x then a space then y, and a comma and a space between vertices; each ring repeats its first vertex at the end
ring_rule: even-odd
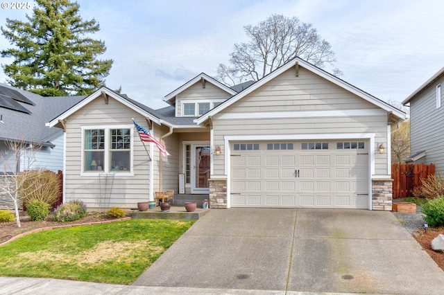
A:
POLYGON ((24 172, 20 177, 19 181, 23 181, 20 193, 24 196, 23 202, 25 205, 33 199, 38 199, 50 205, 57 202, 60 182, 56 173, 33 170, 24 172))

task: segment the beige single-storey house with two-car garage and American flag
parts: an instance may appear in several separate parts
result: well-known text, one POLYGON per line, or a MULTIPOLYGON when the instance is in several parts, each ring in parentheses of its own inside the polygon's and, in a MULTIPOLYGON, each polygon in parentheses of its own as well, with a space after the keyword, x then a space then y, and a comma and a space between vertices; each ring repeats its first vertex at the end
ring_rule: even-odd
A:
POLYGON ((405 114, 316 66, 296 58, 231 88, 201 73, 164 101, 102 87, 49 121, 65 132, 65 198, 136 208, 183 175, 210 208, 391 210, 390 130, 405 114))

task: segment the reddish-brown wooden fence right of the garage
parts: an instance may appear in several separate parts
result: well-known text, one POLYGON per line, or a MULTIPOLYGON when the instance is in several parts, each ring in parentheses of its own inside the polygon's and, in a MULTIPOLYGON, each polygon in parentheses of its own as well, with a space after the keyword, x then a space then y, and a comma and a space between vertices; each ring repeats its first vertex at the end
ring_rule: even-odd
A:
POLYGON ((411 197, 411 190, 422 184, 421 178, 434 174, 434 164, 392 164, 393 199, 411 197))

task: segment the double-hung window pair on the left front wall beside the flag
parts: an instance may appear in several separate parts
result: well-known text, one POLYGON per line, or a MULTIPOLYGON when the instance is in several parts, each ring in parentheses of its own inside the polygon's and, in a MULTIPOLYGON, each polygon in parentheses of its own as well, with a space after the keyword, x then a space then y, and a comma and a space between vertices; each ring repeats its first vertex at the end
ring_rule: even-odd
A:
POLYGON ((133 172, 133 128, 83 127, 82 172, 133 172))

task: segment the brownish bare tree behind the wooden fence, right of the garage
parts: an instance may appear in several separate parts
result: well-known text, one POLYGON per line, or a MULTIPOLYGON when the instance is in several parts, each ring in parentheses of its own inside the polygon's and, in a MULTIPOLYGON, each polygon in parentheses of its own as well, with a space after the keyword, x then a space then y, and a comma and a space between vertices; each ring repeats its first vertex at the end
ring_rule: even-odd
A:
POLYGON ((410 120, 400 123, 391 134, 391 162, 400 164, 410 155, 410 120))

